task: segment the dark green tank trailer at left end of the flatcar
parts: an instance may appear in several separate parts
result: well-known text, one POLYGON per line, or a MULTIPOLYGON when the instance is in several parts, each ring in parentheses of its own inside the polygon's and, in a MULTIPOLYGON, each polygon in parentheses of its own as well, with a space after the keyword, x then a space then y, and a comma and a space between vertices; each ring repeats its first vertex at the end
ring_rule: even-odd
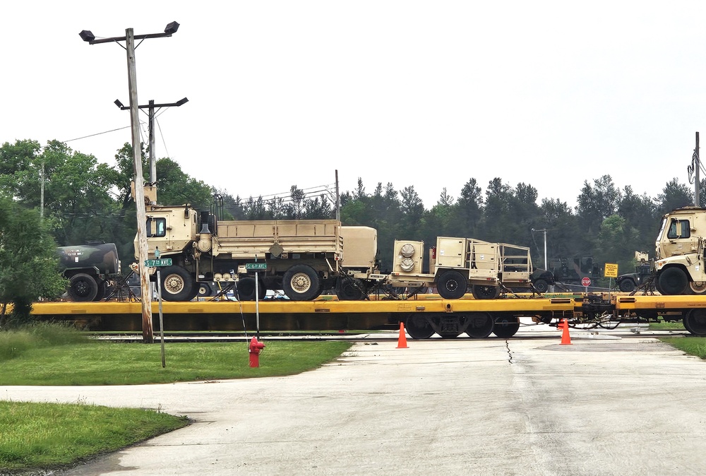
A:
POLYGON ((100 301, 110 280, 121 275, 118 250, 114 243, 88 242, 59 246, 59 268, 68 279, 68 297, 74 301, 100 301))

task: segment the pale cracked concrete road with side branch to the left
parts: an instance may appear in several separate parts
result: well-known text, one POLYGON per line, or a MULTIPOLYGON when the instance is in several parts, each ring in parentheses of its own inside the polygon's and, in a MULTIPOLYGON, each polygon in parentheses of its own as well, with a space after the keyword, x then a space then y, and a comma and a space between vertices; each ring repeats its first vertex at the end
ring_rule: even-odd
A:
POLYGON ((407 340, 407 348, 370 340, 296 376, 2 386, 0 395, 194 420, 61 475, 706 472, 706 363, 654 338, 571 332, 570 345, 546 327, 509 340, 407 340))

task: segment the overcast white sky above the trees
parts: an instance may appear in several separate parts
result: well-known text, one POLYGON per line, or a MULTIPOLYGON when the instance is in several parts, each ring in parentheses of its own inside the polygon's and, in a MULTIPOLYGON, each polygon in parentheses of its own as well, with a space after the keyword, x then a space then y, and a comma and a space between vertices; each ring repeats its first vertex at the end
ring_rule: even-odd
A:
POLYGON ((6 2, 0 143, 102 133, 68 145, 113 164, 131 141, 113 104, 128 104, 126 52, 78 33, 177 21, 136 49, 138 102, 188 97, 157 118, 157 157, 234 196, 335 170, 341 191, 414 185, 426 208, 470 178, 570 206, 603 174, 657 196, 675 177, 693 188, 705 19, 702 1, 6 2))

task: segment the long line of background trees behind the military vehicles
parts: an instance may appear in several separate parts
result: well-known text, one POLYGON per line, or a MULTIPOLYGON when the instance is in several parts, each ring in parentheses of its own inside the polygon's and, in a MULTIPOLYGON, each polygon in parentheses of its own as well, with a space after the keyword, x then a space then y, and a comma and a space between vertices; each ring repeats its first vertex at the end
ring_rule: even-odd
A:
MULTIPOLYGON (((142 157, 147 182, 145 150, 142 157)), ((221 219, 236 220, 325 219, 335 218, 337 213, 335 197, 307 194, 296 185, 287 196, 244 198, 189 177, 169 157, 160 158, 156 165, 160 204, 190 203, 198 210, 208 210, 215 203, 223 210, 221 219)), ((11 240, 24 242, 41 237, 41 246, 52 249, 100 240, 118 246, 126 269, 125 265, 134 261, 136 234, 133 170, 128 143, 117 150, 112 165, 59 141, 44 146, 32 140, 4 143, 0 147, 0 197, 4 206, 32 210, 40 224, 13 230, 8 216, 0 215, 0 251, 11 249, 11 240)), ((702 194, 705 190, 706 180, 702 194)), ((577 191, 578 204, 573 208, 559 198, 539 201, 538 196, 531 184, 513 186, 496 177, 483 189, 476 179, 469 178, 457 194, 444 188, 436 204, 425 208, 413 185, 398 190, 391 182, 378 182, 368 191, 359 179, 356 189, 340 195, 338 211, 343 225, 378 230, 383 272, 392 265, 395 239, 421 240, 433 246, 440 236, 528 246, 534 266, 544 268, 546 233, 550 261, 590 256, 595 263, 617 263, 620 273, 628 273, 634 269, 635 251, 654 256, 654 238, 662 215, 693 205, 690 187, 676 178, 666 182, 656 196, 648 196, 635 194, 629 185, 619 188, 608 174, 586 179, 577 191)), ((13 266, 3 262, 9 259, 7 255, 0 253, 0 294, 8 289, 2 283, 16 276, 11 274, 13 266)))

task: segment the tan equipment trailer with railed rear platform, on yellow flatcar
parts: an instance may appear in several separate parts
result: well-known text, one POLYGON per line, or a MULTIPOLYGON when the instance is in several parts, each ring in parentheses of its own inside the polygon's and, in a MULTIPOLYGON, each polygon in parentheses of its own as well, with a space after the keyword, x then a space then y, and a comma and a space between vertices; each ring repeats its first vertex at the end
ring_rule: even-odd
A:
POLYGON ((459 299, 469 291, 475 299, 495 299, 501 292, 515 290, 536 291, 530 249, 525 246, 437 237, 429 254, 430 273, 422 273, 423 255, 424 242, 395 240, 393 270, 386 280, 398 287, 433 286, 444 299, 459 299))

